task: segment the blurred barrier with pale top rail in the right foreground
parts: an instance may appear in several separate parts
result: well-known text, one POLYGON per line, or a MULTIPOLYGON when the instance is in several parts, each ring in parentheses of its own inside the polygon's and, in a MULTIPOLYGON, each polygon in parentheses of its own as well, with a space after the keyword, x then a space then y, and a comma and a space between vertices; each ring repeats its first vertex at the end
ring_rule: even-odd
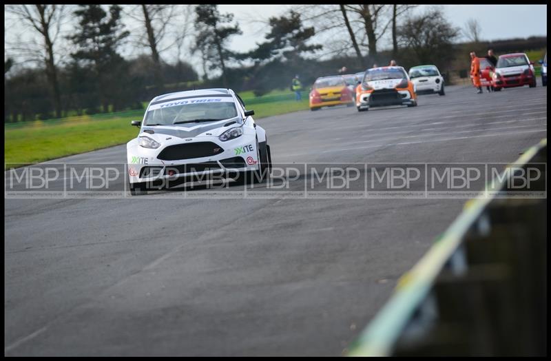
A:
MULTIPOLYGON (((546 149, 543 139, 509 169, 546 170, 546 149)), ((536 185, 545 189, 540 198, 485 191, 469 200, 348 355, 546 355, 545 180, 536 185)), ((490 186, 510 191, 507 180, 490 186)))

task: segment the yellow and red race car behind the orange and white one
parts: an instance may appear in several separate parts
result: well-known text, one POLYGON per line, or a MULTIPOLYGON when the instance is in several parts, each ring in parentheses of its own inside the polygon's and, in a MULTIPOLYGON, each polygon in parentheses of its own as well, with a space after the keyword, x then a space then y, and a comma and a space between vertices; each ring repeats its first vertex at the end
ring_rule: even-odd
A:
POLYGON ((323 76, 315 79, 310 92, 310 110, 346 104, 354 105, 353 91, 346 86, 342 76, 323 76))

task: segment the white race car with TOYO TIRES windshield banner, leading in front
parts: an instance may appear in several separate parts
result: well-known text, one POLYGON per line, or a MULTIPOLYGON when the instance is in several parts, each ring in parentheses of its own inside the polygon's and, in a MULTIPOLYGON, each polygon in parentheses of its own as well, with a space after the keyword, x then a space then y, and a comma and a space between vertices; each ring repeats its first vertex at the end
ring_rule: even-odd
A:
POLYGON ((215 176, 264 180, 271 171, 270 147, 253 114, 231 89, 156 96, 143 121, 132 121, 141 129, 126 145, 130 193, 215 176))

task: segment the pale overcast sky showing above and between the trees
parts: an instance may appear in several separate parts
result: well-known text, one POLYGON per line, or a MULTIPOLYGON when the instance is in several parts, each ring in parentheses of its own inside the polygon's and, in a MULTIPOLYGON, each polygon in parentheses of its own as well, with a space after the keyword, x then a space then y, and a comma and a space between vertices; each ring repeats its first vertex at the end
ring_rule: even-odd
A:
MULTIPOLYGON (((412 14, 424 12, 430 6, 418 6, 412 10, 412 14)), ((280 16, 291 8, 296 7, 296 5, 220 5, 220 12, 232 12, 234 14, 234 19, 238 21, 243 32, 242 35, 231 37, 231 41, 229 42, 231 50, 246 52, 255 48, 256 43, 264 41, 264 34, 269 31, 269 26, 267 25, 269 17, 280 16)), ((443 5, 440 7, 444 10, 448 21, 459 28, 464 28, 466 21, 469 19, 476 19, 479 25, 481 25, 482 40, 547 36, 546 5, 443 5)), ((21 25, 17 21, 8 21, 6 14, 5 19, 6 41, 7 37, 21 33, 21 25)), ((136 25, 132 24, 132 21, 127 18, 125 18, 125 23, 127 24, 127 28, 132 28, 132 25, 136 25)), ((66 32, 72 32, 72 26, 67 25, 66 32)), ((390 33, 389 31, 388 36, 382 38, 377 43, 377 48, 380 50, 390 48, 390 33)), ((36 37, 36 34, 30 31, 23 32, 23 34, 24 37, 36 37)), ((458 39, 458 41, 464 40, 463 37, 458 39)), ((191 38, 189 38, 189 41, 191 41, 191 38)), ((316 39, 316 41, 323 43, 323 37, 316 39)), ((134 57, 136 54, 144 51, 143 48, 127 45, 122 50, 122 53, 123 56, 134 57)), ((170 50, 168 50, 163 53, 163 58, 165 61, 172 62, 174 61, 174 54, 170 54, 170 50)), ((197 55, 191 56, 188 54, 184 60, 189 61, 199 74, 202 73, 202 66, 197 55)))

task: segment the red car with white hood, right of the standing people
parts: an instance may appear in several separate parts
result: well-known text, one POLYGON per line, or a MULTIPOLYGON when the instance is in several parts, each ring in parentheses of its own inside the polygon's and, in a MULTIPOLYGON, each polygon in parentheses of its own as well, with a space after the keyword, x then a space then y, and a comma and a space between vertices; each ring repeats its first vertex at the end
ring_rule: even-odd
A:
POLYGON ((534 62, 523 52, 500 55, 493 76, 494 89, 503 87, 536 86, 534 62))

